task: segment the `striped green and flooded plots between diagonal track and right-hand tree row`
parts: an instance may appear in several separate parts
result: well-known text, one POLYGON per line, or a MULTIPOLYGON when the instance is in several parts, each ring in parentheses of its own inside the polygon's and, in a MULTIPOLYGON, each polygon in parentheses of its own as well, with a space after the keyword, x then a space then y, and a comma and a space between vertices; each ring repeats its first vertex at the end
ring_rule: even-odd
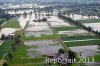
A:
MULTIPOLYGON (((72 25, 73 26, 73 25, 72 25)), ((53 27, 61 40, 69 49, 81 57, 94 57, 99 60, 100 37, 79 27, 53 27), (81 54, 80 54, 81 53, 81 54)), ((94 63, 96 65, 97 63, 94 63)), ((89 65, 89 64, 86 64, 89 65)), ((84 65, 83 65, 84 66, 84 65)), ((92 66, 90 64, 90 66, 92 66)))

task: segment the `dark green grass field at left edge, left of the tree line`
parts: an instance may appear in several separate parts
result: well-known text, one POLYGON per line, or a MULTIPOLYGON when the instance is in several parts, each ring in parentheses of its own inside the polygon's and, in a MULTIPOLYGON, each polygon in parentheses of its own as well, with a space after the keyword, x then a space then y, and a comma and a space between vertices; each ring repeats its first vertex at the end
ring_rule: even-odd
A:
POLYGON ((11 44, 13 44, 13 40, 5 40, 4 43, 0 46, 0 59, 2 58, 4 53, 11 51, 11 44))

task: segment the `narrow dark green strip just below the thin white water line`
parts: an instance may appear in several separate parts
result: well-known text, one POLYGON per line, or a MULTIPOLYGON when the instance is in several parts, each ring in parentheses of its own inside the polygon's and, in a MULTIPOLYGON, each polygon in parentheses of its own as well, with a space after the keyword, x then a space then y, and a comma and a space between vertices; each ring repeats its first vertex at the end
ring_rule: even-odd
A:
POLYGON ((86 45, 100 45, 100 40, 92 41, 77 41, 77 42, 64 42, 67 47, 72 46, 86 46, 86 45))

